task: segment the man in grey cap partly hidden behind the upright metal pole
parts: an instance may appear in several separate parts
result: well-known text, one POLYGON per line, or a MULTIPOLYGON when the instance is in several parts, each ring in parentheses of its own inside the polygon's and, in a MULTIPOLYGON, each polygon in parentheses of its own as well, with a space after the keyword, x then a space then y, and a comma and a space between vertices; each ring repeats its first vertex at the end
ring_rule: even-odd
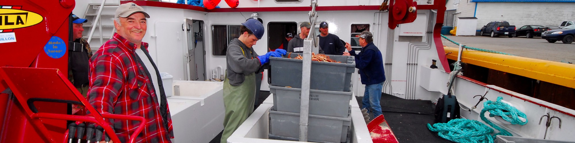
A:
MULTIPOLYGON (((304 53, 304 39, 308 37, 309 35, 309 29, 312 27, 312 25, 309 24, 309 22, 305 21, 305 22, 301 22, 300 24, 300 30, 301 33, 297 34, 296 37, 293 37, 292 40, 289 41, 289 43, 287 43, 287 52, 292 52, 292 53, 304 53)), ((321 50, 321 47, 319 47, 319 53, 320 54, 324 54, 324 51, 321 50)))

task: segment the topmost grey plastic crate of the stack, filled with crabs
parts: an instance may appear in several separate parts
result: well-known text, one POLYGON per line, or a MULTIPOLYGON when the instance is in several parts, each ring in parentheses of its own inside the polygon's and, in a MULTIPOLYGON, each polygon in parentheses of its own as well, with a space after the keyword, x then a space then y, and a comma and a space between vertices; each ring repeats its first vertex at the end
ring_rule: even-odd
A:
MULTIPOLYGON (((301 88, 301 59, 270 57, 271 85, 301 88)), ((329 58, 342 63, 312 61, 310 89, 349 92, 351 73, 355 72, 352 56, 329 55, 329 58)))

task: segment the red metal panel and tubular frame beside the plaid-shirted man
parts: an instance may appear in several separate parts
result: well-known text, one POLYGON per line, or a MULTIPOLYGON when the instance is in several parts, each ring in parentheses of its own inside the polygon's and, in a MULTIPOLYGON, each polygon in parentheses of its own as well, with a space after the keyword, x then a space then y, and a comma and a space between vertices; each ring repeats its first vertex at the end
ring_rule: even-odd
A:
MULTIPOLYGON (((20 113, 33 125, 32 130, 24 130, 22 135, 29 135, 30 132, 39 132, 35 137, 39 137, 44 142, 63 142, 66 132, 66 121, 93 122, 102 126, 106 132, 113 133, 112 128, 104 118, 115 118, 122 120, 140 121, 140 126, 131 135, 129 142, 134 142, 137 134, 144 128, 145 119, 137 116, 122 116, 116 114, 90 114, 88 116, 75 116, 66 114, 66 103, 36 101, 29 102, 32 98, 49 98, 55 100, 75 101, 85 106, 90 113, 98 113, 93 106, 68 82, 58 69, 43 69, 30 67, 0 67, 0 76, 6 77, 4 80, 14 92, 14 97, 20 103, 20 113), (34 113, 30 105, 34 105, 37 113, 34 113), (86 106, 87 105, 87 106, 86 106)), ((76 122, 81 123, 81 122, 76 122)), ((17 126, 18 124, 14 125, 17 126)), ((16 129, 9 126, 9 129, 16 129)), ((34 133, 36 133, 34 132, 34 133)), ((21 136, 22 136, 21 135, 21 136)), ((110 139, 119 142, 116 134, 110 134, 110 139)), ((10 140, 9 140, 10 141, 10 140)), ((39 140, 38 140, 39 141, 39 140)), ((24 142, 28 142, 24 138, 24 142)))

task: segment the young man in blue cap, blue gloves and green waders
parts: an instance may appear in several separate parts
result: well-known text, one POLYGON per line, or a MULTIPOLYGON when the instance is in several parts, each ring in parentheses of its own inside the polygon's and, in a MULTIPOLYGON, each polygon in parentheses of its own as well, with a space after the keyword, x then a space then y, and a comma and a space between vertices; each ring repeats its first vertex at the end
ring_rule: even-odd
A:
POLYGON ((224 80, 224 132, 222 143, 254 112, 256 91, 255 74, 269 69, 270 57, 281 57, 286 50, 276 49, 264 55, 255 53, 252 46, 262 39, 263 24, 254 18, 241 23, 240 37, 233 39, 226 54, 226 75, 224 80))

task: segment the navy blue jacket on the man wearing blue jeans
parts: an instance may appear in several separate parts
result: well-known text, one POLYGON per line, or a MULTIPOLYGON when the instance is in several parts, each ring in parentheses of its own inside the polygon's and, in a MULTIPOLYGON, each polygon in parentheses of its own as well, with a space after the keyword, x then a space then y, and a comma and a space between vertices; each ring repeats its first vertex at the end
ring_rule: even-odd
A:
POLYGON ((373 85, 385 81, 384 60, 381 51, 373 45, 373 42, 362 47, 362 52, 359 54, 351 50, 350 55, 355 56, 355 68, 359 69, 361 84, 373 85))

